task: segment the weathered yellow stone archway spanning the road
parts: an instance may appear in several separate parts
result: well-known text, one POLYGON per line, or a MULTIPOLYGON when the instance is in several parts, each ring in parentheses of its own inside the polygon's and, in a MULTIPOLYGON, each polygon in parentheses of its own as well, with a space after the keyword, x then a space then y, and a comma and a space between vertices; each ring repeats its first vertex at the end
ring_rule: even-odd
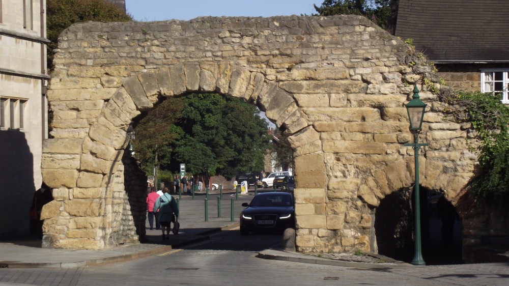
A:
MULTIPOLYGON (((102 249, 143 235, 121 159, 129 125, 162 96, 243 98, 292 134, 299 251, 376 251, 374 209, 413 183, 403 104, 431 67, 363 17, 83 23, 59 47, 48 93, 54 138, 43 150, 55 197, 43 211, 45 247, 102 249)), ((474 165, 460 144, 466 131, 430 106, 421 184, 457 193, 474 165), (461 171, 443 168, 458 162, 461 171)))

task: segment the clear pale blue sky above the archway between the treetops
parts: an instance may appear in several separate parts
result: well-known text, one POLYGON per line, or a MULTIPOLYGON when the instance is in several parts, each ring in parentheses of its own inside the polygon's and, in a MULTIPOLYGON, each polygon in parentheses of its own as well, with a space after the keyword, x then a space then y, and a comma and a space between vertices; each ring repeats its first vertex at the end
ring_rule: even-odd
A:
POLYGON ((136 21, 190 20, 200 16, 289 16, 316 13, 323 0, 126 0, 136 21))

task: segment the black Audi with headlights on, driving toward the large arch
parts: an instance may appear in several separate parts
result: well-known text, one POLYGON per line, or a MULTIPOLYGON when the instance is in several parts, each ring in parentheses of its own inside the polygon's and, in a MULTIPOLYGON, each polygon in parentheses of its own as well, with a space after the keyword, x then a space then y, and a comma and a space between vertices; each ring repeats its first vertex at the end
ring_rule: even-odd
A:
POLYGON ((268 192, 255 195, 251 203, 240 213, 240 234, 251 231, 284 231, 295 227, 293 196, 284 192, 268 192))

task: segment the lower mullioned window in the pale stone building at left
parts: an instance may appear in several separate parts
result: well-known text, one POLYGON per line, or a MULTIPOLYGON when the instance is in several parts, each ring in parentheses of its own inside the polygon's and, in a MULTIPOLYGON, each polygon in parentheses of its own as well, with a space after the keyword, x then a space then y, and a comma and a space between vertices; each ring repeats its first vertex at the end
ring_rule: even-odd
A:
POLYGON ((26 99, 0 98, 0 129, 24 130, 26 99))

